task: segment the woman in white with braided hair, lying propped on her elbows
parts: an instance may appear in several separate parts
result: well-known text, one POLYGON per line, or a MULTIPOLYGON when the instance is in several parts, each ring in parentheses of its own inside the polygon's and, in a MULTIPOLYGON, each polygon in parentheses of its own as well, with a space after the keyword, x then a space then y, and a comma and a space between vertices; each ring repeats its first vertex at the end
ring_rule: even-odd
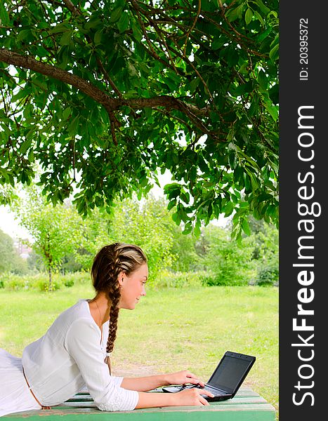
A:
POLYGON ((202 394, 211 394, 204 389, 145 393, 163 385, 204 386, 188 370, 137 378, 111 373, 119 309, 134 309, 145 295, 143 250, 125 243, 101 248, 91 277, 96 296, 60 314, 44 336, 25 347, 22 359, 0 349, 0 416, 58 405, 83 387, 100 410, 208 405, 202 394))

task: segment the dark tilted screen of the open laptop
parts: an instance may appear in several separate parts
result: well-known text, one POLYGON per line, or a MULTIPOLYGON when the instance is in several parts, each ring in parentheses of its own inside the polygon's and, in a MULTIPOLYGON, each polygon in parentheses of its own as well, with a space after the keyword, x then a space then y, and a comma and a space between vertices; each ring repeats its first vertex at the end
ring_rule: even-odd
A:
POLYGON ((235 392, 236 387, 240 386, 253 362, 251 359, 225 355, 211 375, 208 384, 228 393, 235 392))

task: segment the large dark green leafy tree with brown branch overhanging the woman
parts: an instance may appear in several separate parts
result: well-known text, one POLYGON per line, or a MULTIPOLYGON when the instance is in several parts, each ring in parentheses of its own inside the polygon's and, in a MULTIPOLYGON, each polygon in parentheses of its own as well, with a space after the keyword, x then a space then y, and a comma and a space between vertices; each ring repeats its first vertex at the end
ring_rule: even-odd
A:
POLYGON ((277 223, 277 0, 4 0, 0 180, 86 215, 159 171, 185 232, 277 223), (246 221, 246 222, 245 222, 246 221))

